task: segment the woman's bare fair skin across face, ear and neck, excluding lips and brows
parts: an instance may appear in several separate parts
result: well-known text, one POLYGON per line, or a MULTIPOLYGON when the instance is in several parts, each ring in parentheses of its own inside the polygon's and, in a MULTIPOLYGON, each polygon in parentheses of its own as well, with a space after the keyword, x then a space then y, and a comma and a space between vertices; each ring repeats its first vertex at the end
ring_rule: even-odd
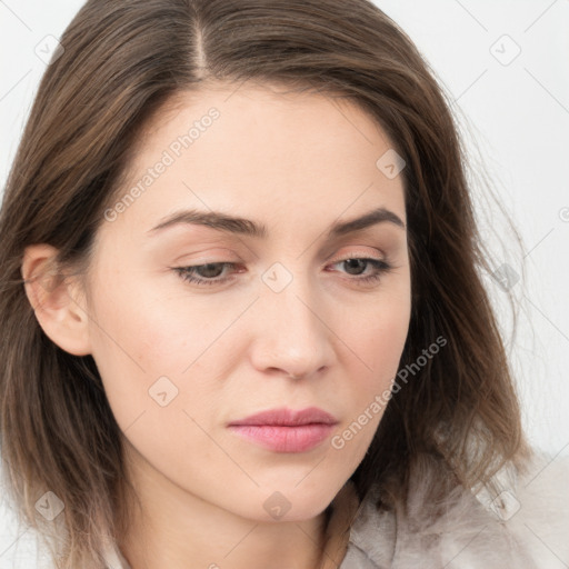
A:
MULTIPOLYGON (((120 542, 133 569, 313 569, 323 510, 382 411, 341 449, 329 437, 297 453, 259 447, 227 423, 317 406, 338 419, 338 435, 391 387, 411 309, 407 231, 381 222, 336 240, 326 232, 379 207, 406 222, 402 178, 376 167, 392 144, 355 104, 247 86, 186 93, 163 108, 139 140, 124 192, 211 107, 220 112, 211 127, 134 203, 102 220, 84 280, 27 291, 46 333, 91 353, 101 373, 143 506, 120 542), (256 220, 269 236, 197 224, 148 232, 182 208, 256 220), (391 270, 367 284, 358 279, 373 266, 350 272, 341 262, 386 256, 391 270), (172 269, 208 262, 239 269, 201 287, 172 269), (278 293, 262 279, 276 262, 291 278, 278 293), (149 395, 163 376, 178 389, 164 407, 149 395), (276 491, 290 505, 278 520, 263 508, 276 491)), ((29 247, 22 274, 53 252, 29 247)))

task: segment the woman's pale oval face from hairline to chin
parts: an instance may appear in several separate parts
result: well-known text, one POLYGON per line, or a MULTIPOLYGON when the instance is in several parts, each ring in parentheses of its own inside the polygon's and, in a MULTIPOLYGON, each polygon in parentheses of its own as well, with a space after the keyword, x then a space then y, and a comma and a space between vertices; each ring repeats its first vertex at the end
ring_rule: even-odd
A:
POLYGON ((239 516, 301 520, 362 460, 398 370, 400 163, 351 103, 233 91, 184 94, 138 141, 97 234, 89 341, 132 463, 239 516), (281 408, 332 425, 230 427, 281 408))

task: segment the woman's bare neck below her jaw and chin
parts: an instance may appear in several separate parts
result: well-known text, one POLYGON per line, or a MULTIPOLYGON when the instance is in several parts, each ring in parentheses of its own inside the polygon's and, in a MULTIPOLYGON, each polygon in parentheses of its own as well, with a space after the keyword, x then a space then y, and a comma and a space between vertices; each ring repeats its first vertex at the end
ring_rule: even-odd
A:
POLYGON ((142 457, 131 467, 140 505, 131 508, 128 532, 119 540, 131 569, 321 567, 326 512, 302 521, 251 520, 189 493, 142 457))

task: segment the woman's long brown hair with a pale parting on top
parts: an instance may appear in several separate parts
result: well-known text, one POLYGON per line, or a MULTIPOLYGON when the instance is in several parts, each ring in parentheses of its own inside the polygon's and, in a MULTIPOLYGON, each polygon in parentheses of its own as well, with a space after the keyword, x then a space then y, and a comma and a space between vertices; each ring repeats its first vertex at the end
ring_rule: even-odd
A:
POLYGON ((13 162, 0 213, 1 449, 26 523, 54 532, 58 567, 102 567, 101 540, 128 525, 121 431, 90 356, 40 328, 23 250, 49 243, 81 273, 120 194, 136 136, 172 96, 243 81, 343 97, 405 158, 412 315, 401 367, 448 346, 390 400, 352 476, 360 496, 403 500, 420 456, 465 487, 488 483, 527 446, 480 270, 491 272, 450 103, 417 48, 368 0, 90 0, 61 38, 13 162), (450 475, 451 473, 451 475, 450 475), (392 483, 392 480, 398 483, 392 483), (51 523, 34 503, 52 491, 51 523))

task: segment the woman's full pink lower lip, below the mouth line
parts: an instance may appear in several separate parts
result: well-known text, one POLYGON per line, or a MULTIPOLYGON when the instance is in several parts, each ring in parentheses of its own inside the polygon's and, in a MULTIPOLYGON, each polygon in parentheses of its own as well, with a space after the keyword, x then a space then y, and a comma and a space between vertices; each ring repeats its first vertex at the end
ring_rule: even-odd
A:
POLYGON ((230 425, 237 435, 276 452, 310 450, 329 437, 333 425, 310 423, 296 427, 280 425, 230 425))

